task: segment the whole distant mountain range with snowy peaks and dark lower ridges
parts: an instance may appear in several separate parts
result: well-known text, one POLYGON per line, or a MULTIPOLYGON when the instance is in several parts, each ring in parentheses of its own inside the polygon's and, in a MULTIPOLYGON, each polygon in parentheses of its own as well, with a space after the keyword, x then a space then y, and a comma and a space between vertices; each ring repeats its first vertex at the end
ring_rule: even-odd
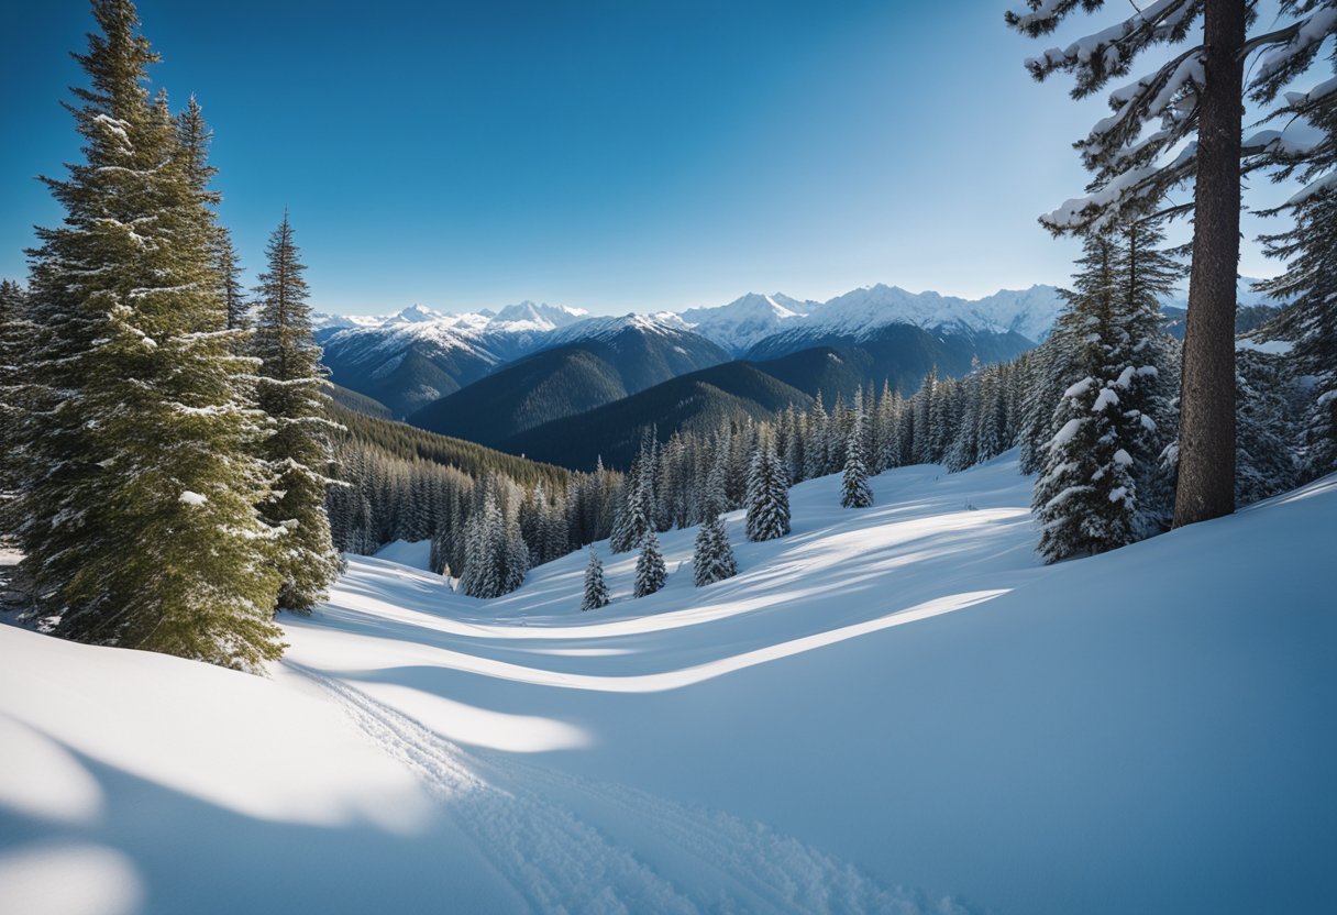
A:
MULTIPOLYGON (((1263 297, 1241 280, 1241 316, 1263 297)), ((1182 336, 1182 296, 1165 302, 1182 336)), ((773 415, 869 383, 913 392, 931 368, 1015 359, 1048 337, 1055 286, 979 300, 873 285, 825 302, 749 293, 726 305, 620 317, 531 301, 457 314, 317 316, 346 401, 424 429, 588 468, 630 459, 643 429, 773 415)), ((1255 317, 1255 316, 1254 316, 1255 317)), ((1253 317, 1250 317, 1253 320, 1253 317)))

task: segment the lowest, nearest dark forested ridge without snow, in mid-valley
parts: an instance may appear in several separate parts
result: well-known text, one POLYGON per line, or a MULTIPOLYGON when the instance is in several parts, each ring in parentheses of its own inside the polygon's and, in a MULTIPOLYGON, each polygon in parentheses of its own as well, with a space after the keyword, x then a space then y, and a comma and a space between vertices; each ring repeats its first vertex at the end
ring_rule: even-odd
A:
POLYGON ((647 388, 575 416, 555 419, 503 439, 503 451, 572 470, 626 468, 646 431, 664 440, 674 431, 710 431, 725 421, 769 419, 813 399, 745 361, 725 363, 647 388))

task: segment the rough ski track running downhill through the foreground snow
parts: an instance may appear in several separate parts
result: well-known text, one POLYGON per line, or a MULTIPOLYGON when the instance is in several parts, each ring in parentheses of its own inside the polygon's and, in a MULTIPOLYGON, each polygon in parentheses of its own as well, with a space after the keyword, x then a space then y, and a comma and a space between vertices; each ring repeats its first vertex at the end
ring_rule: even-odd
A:
POLYGON ((368 738, 416 772, 533 911, 968 912, 951 899, 884 887, 762 824, 500 754, 473 756, 341 680, 283 664, 328 690, 368 738), (693 886, 656 872, 558 797, 579 799, 592 819, 612 808, 622 815, 612 821, 634 823, 638 845, 651 837, 664 870, 693 886))

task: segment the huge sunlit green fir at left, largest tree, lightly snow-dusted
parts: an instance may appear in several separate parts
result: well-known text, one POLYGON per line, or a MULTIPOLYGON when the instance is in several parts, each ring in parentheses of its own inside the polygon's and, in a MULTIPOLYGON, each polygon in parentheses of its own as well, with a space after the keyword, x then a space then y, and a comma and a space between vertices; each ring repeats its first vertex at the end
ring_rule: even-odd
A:
POLYGON ((31 253, 21 547, 57 633, 255 668, 282 650, 255 506, 262 416, 231 352, 198 151, 151 102, 134 4, 98 0, 71 106, 84 161, 31 253))

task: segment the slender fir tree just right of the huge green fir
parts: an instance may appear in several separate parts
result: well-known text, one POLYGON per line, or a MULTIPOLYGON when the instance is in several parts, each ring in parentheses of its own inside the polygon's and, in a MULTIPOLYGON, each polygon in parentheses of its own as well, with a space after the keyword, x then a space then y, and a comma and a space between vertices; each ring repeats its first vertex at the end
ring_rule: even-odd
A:
POLYGON ((310 613, 340 573, 325 514, 325 490, 333 483, 329 429, 334 424, 326 416, 325 369, 312 334, 302 276, 306 266, 286 213, 270 235, 266 256, 251 338, 251 352, 261 363, 259 407, 271 423, 261 453, 274 475, 274 492, 261 514, 285 531, 275 542, 274 562, 283 581, 277 606, 310 613))

